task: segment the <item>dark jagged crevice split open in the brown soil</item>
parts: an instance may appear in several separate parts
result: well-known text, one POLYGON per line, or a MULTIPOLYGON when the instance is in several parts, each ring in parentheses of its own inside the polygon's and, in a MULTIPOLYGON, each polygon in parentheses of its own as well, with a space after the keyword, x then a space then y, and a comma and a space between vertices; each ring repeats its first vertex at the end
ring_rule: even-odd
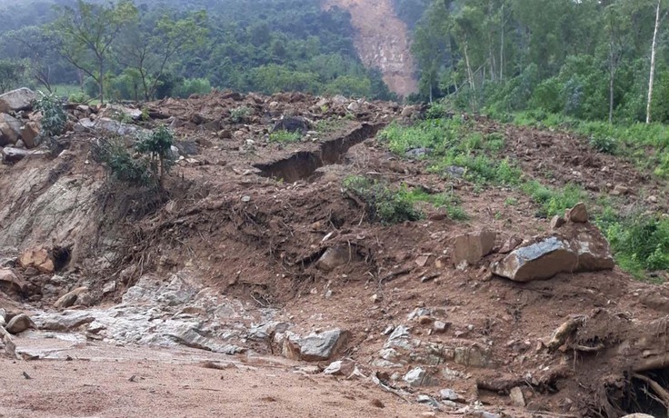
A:
POLYGON ((384 124, 362 124, 349 134, 325 141, 316 151, 298 151, 281 160, 255 164, 260 175, 282 179, 287 183, 308 179, 324 165, 341 164, 349 148, 373 137, 384 124))

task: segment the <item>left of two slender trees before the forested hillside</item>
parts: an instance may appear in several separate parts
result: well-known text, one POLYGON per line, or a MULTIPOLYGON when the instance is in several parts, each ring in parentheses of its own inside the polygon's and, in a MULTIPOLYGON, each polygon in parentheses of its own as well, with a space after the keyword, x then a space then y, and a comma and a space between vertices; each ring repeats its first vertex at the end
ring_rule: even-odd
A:
POLYGON ((100 102, 105 103, 105 70, 116 37, 137 16, 131 0, 115 5, 96 5, 77 0, 75 7, 57 9, 52 25, 65 60, 90 75, 98 85, 100 102))

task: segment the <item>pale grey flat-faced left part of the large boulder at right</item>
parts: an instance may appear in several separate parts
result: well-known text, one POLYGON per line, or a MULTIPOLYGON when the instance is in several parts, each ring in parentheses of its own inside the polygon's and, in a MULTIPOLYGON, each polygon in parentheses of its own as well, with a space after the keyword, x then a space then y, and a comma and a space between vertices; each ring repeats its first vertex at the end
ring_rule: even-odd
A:
POLYGON ((550 236, 536 244, 518 248, 502 261, 493 264, 492 271, 515 282, 531 282, 573 272, 576 265, 578 256, 569 243, 550 236))

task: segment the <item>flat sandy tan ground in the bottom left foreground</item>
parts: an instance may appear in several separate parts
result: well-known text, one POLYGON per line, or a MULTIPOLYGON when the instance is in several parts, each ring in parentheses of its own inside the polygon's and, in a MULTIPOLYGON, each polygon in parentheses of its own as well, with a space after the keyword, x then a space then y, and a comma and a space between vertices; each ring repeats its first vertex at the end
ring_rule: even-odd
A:
POLYGON ((397 402, 368 381, 307 374, 285 360, 251 365, 202 350, 104 343, 64 348, 68 344, 55 339, 17 343, 50 351, 50 360, 0 360, 0 417, 346 418, 430 411, 397 402))

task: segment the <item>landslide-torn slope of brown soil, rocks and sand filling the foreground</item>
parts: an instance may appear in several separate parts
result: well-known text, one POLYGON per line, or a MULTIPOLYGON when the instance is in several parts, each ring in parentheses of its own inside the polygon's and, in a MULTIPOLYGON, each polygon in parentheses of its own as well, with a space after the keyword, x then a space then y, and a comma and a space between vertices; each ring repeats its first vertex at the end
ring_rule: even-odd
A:
MULTIPOLYGON (((539 214, 519 187, 391 150, 384 130, 420 106, 67 104, 46 141, 35 95, 10 95, 0 414, 667 416, 669 287, 614 265, 589 204, 539 214), (158 126, 175 134, 158 190, 99 161, 158 126)), ((663 184, 582 138, 448 117, 526 182, 667 212, 663 184)))

